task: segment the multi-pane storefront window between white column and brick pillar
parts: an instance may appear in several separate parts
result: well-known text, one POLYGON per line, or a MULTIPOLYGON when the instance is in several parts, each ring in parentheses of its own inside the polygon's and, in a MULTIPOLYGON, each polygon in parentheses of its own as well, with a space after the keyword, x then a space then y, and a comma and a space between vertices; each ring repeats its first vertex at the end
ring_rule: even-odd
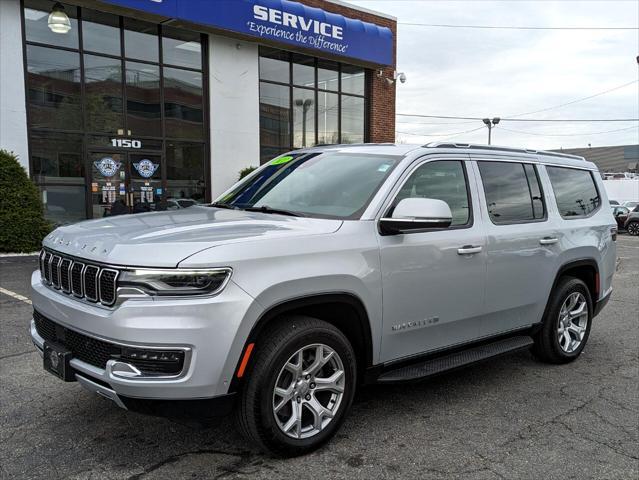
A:
POLYGON ((365 142, 366 75, 361 67, 261 47, 261 162, 318 143, 365 142))

